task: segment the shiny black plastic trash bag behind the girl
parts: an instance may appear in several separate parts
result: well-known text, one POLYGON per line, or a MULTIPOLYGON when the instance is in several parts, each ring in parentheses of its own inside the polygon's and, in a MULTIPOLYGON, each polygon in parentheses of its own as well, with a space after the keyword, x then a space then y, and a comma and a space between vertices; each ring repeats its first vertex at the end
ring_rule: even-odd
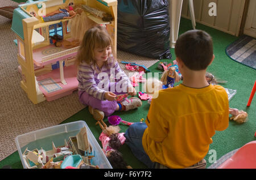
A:
POLYGON ((168 5, 168 0, 118 0, 117 48, 171 59, 168 5))

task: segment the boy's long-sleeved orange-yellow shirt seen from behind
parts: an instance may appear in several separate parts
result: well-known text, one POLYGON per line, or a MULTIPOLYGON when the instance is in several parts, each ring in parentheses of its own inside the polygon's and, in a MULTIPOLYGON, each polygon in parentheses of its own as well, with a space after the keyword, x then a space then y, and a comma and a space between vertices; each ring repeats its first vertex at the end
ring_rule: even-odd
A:
POLYGON ((142 144, 151 161, 187 168, 207 155, 215 131, 229 125, 228 95, 220 85, 180 84, 152 99, 142 144))

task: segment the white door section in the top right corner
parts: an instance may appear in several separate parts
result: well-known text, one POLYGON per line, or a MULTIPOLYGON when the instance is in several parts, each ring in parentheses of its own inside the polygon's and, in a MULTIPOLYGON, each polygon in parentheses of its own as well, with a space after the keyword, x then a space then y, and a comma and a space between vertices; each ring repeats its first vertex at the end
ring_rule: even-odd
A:
POLYGON ((245 35, 256 38, 256 1, 250 0, 249 9, 246 16, 245 29, 243 29, 245 35))

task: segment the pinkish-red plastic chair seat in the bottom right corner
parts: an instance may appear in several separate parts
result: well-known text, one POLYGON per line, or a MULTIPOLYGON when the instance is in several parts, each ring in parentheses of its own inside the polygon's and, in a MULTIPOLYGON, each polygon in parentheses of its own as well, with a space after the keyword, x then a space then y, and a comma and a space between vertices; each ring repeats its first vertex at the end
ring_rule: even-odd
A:
POLYGON ((218 169, 256 169, 256 140, 243 145, 218 169))

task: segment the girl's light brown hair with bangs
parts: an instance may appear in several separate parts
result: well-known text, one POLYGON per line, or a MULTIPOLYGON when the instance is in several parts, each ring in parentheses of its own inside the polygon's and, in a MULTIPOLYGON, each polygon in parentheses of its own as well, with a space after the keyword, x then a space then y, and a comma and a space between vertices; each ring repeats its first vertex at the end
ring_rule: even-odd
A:
POLYGON ((111 46, 113 53, 112 38, 105 27, 96 25, 88 29, 82 38, 81 46, 77 52, 77 64, 80 65, 80 63, 85 62, 88 65, 91 63, 95 65, 94 49, 106 48, 108 46, 111 46))

